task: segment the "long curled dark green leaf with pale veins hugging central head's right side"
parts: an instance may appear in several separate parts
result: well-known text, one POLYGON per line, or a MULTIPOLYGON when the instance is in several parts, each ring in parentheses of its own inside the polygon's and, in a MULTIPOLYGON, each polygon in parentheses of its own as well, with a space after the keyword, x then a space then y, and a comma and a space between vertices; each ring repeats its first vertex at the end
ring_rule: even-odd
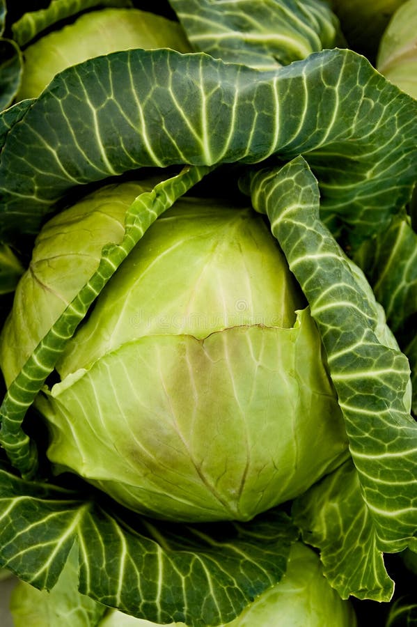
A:
POLYGON ((417 424, 409 414, 409 364, 381 326, 381 308, 363 274, 322 224, 317 180, 303 157, 254 173, 248 185, 320 329, 356 469, 337 470, 336 478, 311 488, 301 497, 296 520, 308 530, 308 541, 322 548, 326 575, 342 596, 352 594, 354 585, 360 595, 370 575, 383 600, 393 589, 381 552, 417 548, 417 424), (347 498, 349 491, 356 498, 347 498), (335 515, 336 493, 338 509, 347 516, 335 515), (347 569, 340 577, 340 562, 336 574, 333 566, 342 552, 347 569))

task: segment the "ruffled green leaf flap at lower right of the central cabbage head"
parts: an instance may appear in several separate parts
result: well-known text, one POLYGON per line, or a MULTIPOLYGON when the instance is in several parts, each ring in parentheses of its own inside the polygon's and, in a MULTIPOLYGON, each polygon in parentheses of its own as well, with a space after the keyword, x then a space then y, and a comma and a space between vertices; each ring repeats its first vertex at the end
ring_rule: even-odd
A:
POLYGON ((292 514, 304 541, 320 548, 324 573, 342 598, 390 601, 394 583, 352 461, 296 499, 292 514))

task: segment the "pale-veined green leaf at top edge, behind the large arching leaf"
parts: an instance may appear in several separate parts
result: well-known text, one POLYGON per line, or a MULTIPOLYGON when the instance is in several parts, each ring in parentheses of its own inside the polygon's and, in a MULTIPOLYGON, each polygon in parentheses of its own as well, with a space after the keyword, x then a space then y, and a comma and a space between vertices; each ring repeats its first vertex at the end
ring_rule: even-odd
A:
POLYGON ((191 45, 217 59, 274 70, 338 38, 338 21, 320 0, 170 0, 191 45))

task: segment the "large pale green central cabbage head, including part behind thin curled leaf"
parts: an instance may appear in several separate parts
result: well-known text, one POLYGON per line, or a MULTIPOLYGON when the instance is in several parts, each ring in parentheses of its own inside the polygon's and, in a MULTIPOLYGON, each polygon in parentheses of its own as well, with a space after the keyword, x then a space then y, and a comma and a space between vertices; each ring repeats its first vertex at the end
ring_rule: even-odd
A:
MULTIPOLYGON (((107 187, 42 230, 0 358, 10 384, 120 241, 142 191, 107 187)), ((320 335, 260 215, 186 198, 97 299, 38 396, 49 459, 134 511, 249 520, 348 456, 320 335)))

